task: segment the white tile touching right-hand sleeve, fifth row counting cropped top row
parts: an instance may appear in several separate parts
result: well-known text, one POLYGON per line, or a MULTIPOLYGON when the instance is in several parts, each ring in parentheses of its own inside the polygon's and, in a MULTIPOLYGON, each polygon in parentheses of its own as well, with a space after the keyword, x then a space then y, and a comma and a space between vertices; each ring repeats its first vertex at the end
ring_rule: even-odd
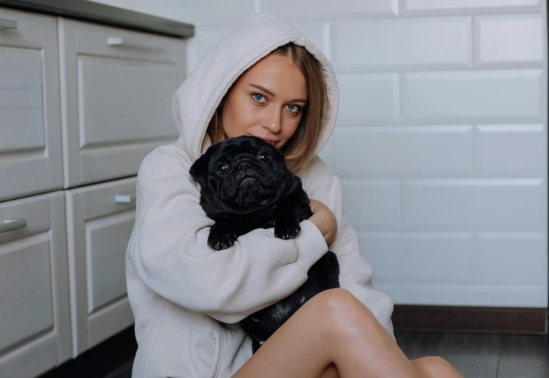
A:
POLYGON ((400 180, 342 180, 343 208, 357 231, 401 227, 400 180))

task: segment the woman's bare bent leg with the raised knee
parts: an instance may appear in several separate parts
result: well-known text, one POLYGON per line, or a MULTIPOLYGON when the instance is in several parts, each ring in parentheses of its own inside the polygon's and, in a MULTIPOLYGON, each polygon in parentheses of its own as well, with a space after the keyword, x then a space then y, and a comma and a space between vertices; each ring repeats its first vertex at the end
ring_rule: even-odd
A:
POLYGON ((303 305, 233 378, 334 377, 332 365, 341 378, 421 377, 376 317, 334 289, 303 305))

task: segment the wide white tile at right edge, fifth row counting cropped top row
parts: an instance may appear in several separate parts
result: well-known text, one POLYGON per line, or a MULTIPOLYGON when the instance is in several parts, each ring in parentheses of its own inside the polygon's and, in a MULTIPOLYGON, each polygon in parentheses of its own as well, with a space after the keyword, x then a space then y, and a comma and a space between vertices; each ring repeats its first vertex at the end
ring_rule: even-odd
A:
POLYGON ((405 180, 403 190, 405 229, 545 230, 542 178, 405 180))

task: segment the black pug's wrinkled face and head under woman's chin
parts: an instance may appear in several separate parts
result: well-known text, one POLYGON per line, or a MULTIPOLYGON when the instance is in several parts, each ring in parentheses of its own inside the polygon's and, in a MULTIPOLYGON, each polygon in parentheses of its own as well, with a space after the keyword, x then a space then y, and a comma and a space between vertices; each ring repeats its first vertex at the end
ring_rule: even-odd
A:
POLYGON ((210 205, 269 205, 284 193, 284 155, 252 136, 229 138, 207 149, 190 168, 210 205))

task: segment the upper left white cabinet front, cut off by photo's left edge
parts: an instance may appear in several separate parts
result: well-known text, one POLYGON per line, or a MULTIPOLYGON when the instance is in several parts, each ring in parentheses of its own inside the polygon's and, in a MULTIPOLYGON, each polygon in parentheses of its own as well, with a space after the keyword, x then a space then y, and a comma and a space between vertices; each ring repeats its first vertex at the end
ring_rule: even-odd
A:
POLYGON ((56 18, 0 8, 0 200, 62 188, 58 71, 56 18))

